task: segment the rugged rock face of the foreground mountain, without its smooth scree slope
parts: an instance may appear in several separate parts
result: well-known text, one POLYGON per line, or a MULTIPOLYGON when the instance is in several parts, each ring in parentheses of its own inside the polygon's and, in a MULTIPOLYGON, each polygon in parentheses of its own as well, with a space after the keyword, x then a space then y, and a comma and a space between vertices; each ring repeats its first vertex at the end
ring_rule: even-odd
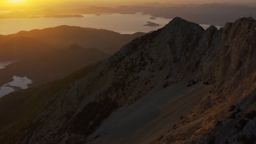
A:
MULTIPOLYGON (((247 131, 244 137, 250 138, 255 135, 255 118, 246 119, 246 114, 255 109, 255 79, 253 18, 238 19, 220 30, 214 26, 204 30, 176 17, 162 29, 135 38, 90 74, 56 93, 20 130, 27 136, 17 143, 93 143, 100 136, 89 136, 114 111, 177 83, 184 88, 203 84, 211 90, 201 97, 193 114, 172 121, 168 132, 159 131, 157 142, 233 142, 243 130, 247 131), (230 107, 242 112, 234 114, 230 107), (230 114, 235 118, 228 118, 230 114), (247 122, 240 130, 242 117, 247 122), (240 131, 233 128, 233 133, 222 135, 236 122, 240 131)), ((142 143, 150 142, 156 141, 142 143)))

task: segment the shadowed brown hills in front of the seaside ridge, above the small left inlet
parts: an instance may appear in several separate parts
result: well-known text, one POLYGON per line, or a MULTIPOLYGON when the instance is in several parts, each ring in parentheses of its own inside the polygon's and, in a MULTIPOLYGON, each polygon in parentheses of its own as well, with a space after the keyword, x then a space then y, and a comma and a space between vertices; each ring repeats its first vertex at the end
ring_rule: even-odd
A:
POLYGON ((33 84, 29 87, 34 87, 63 78, 108 57, 108 54, 77 44, 56 49, 33 38, 15 37, 2 45, 0 57, 3 61, 14 60, 13 64, 0 70, 1 86, 18 75, 32 79, 33 84))

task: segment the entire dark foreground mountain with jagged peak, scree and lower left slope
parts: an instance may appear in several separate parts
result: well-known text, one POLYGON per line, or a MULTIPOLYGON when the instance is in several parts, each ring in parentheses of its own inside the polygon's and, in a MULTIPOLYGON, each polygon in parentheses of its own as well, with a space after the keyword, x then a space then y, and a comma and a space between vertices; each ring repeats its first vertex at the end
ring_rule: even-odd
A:
POLYGON ((0 143, 255 143, 255 79, 256 20, 204 30, 175 17, 100 63, 0 98, 0 143))

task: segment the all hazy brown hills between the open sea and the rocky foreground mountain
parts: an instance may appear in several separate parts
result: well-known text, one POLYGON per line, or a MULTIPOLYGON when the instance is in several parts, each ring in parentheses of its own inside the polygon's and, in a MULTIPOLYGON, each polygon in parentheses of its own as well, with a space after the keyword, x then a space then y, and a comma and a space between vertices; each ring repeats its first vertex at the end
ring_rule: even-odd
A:
POLYGON ((30 86, 63 78, 103 60, 133 38, 108 30, 59 26, 0 36, 0 61, 16 61, 0 70, 0 86, 13 75, 27 76, 30 86))

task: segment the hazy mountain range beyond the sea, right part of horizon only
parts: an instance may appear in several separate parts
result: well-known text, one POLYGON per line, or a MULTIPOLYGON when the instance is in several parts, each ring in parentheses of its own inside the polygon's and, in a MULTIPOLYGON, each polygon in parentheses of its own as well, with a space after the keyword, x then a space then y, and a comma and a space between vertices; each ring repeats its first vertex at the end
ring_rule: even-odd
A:
MULTIPOLYGON (((72 11, 71 11, 72 12, 72 11)), ((256 6, 251 7, 235 4, 205 4, 180 6, 121 6, 117 8, 90 7, 73 10, 74 13, 135 13, 151 14, 155 17, 174 18, 184 17, 198 24, 224 26, 226 22, 234 22, 238 17, 256 16, 256 6)))

